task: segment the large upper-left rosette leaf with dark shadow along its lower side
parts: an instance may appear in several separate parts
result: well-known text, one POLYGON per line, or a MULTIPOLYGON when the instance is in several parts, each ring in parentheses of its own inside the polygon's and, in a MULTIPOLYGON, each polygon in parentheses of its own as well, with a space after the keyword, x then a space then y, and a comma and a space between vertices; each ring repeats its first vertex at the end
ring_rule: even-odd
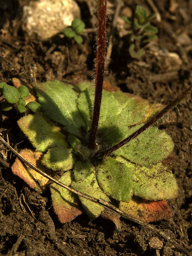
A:
POLYGON ((64 130, 83 138, 86 131, 83 116, 77 108, 77 92, 72 85, 63 84, 57 80, 34 86, 41 109, 44 113, 64 125, 64 130))

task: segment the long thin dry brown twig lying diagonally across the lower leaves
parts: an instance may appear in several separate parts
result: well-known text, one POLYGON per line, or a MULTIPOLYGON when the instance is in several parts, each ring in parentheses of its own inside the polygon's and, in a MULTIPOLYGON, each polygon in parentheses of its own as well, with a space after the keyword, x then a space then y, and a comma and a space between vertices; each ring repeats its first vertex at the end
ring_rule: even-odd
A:
POLYGON ((87 194, 84 194, 74 188, 68 187, 65 184, 61 183, 58 180, 53 179, 51 176, 49 176, 48 174, 42 172, 40 169, 38 169, 35 165, 31 164, 27 159, 25 159, 23 156, 21 156, 15 149, 13 149, 1 136, 0 136, 0 141, 7 147, 9 148, 22 162, 24 162, 25 164, 27 164, 29 167, 31 167, 32 169, 34 169, 36 172, 40 173, 42 176, 44 176, 45 178, 51 180, 52 182, 54 182, 55 184, 61 186, 62 188, 66 188, 67 190, 75 193, 78 196, 82 196, 83 198, 86 198, 96 204, 99 204, 109 210, 111 210, 112 212, 116 212, 118 215, 124 217, 125 219, 134 221, 135 223, 140 224, 141 226, 145 227, 145 228, 149 228, 150 230, 152 230, 153 232, 159 234, 160 236, 164 237, 168 242, 172 243, 175 248, 179 251, 182 252, 183 254, 185 254, 186 256, 192 256, 192 254, 186 250, 183 246, 181 246, 180 244, 178 244, 171 236, 165 234, 163 231, 159 230, 158 228, 156 228, 155 226, 148 224, 142 220, 139 220, 137 218, 135 218, 132 215, 129 215, 125 212, 122 212, 121 210, 119 210, 117 207, 115 207, 114 205, 110 204, 109 202, 103 200, 102 198, 97 199, 93 196, 89 196, 87 194))

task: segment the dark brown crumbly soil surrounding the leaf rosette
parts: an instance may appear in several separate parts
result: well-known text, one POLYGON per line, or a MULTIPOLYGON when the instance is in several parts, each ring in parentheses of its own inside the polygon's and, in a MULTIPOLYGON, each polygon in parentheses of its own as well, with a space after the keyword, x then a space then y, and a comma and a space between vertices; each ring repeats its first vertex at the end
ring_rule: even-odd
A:
MULTIPOLYGON (((31 69, 35 70, 37 82, 59 79, 76 83, 91 79, 95 34, 85 36, 82 45, 59 35, 43 42, 29 38, 21 28, 22 7, 28 2, 0 0, 0 81, 12 84, 12 78, 16 77, 22 83, 30 84, 31 69)), ((132 10, 136 4, 151 10, 147 3, 124 0, 124 6, 132 10)), ((106 80, 150 103, 166 105, 192 82, 192 1, 154 0, 154 3, 162 17, 162 22, 153 23, 159 29, 159 39, 146 48, 146 55, 141 59, 131 59, 126 38, 116 31, 106 80), (171 12, 172 3, 178 6, 171 12), (180 41, 182 35, 188 36, 189 43, 180 41), (168 51, 179 55, 180 64, 178 59, 168 58, 168 51)), ((86 26, 91 27, 92 14, 87 14, 86 1, 78 4, 86 26)), ((116 1, 111 4, 115 6, 116 1)), ((108 29, 111 18, 113 15, 109 14, 108 29)), ((169 202, 172 217, 153 224, 191 251, 191 97, 173 110, 172 117, 160 128, 175 143, 172 172, 179 186, 178 197, 169 202)), ((31 147, 19 135, 16 124, 19 118, 15 109, 1 112, 0 132, 4 138, 8 135, 9 143, 18 150, 31 147)), ((0 152, 0 255, 181 255, 160 236, 128 220, 122 219, 119 232, 110 220, 99 217, 91 222, 84 213, 70 223, 60 224, 53 212, 50 192, 38 194, 30 189, 11 172, 15 156, 3 145, 0 145, 0 152), (149 246, 154 236, 163 241, 162 249, 149 246)))

